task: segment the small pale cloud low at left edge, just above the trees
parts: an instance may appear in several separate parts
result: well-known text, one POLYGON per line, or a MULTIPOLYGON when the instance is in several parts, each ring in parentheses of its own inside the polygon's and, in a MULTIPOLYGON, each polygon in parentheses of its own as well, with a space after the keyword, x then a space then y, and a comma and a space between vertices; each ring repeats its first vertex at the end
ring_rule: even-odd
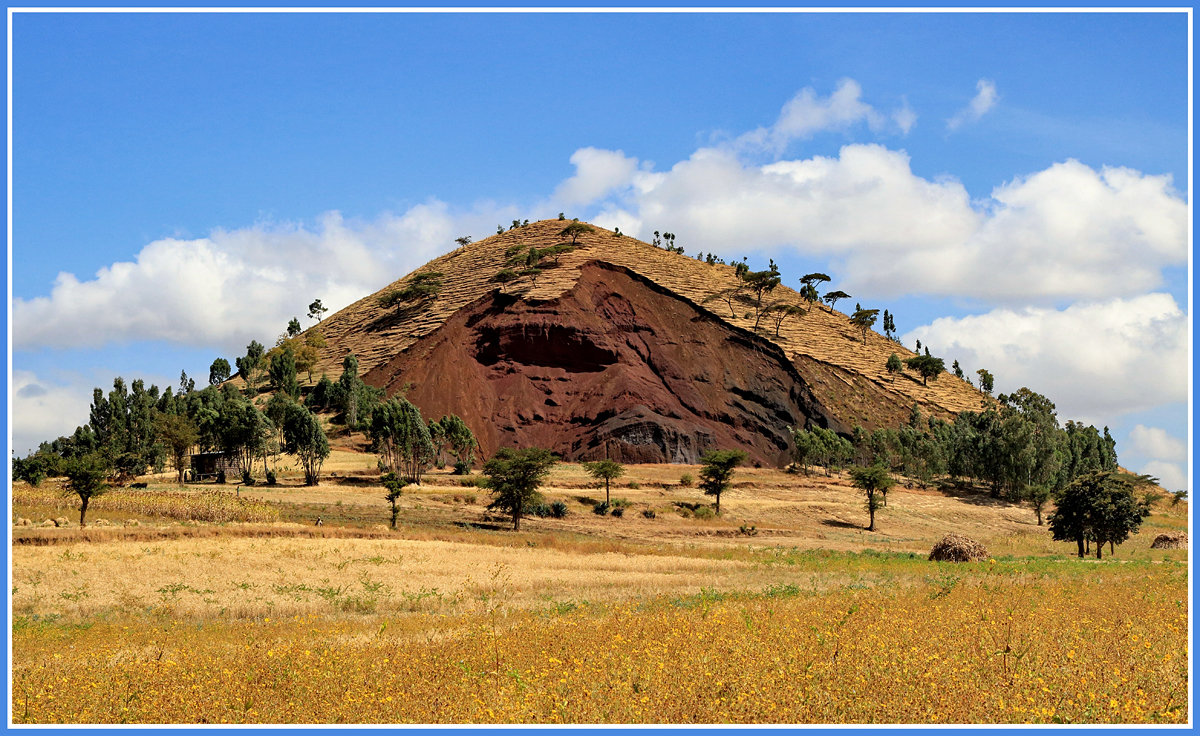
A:
POLYGON ((56 385, 30 371, 12 372, 12 449, 24 456, 88 420, 91 387, 56 385))

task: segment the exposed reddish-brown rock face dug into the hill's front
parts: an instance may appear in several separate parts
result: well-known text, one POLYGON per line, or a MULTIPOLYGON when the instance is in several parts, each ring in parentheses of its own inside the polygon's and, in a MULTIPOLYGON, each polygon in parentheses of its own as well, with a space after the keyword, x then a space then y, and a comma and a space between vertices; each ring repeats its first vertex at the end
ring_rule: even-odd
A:
POLYGON ((772 342, 623 267, 588 262, 551 300, 492 292, 364 376, 430 418, 455 413, 485 455, 696 462, 744 448, 776 465, 788 426, 840 426, 772 342), (607 445, 607 448, 606 448, 607 445))

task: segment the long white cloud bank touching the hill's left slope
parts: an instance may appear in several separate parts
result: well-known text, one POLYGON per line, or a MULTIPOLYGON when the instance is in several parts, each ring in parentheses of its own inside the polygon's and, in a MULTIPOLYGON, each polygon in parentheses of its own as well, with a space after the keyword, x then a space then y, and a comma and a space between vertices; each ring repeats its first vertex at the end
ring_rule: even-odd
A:
POLYGON ((164 340, 240 349, 282 331, 313 298, 341 309, 449 250, 456 235, 479 232, 463 228, 490 228, 508 211, 456 217, 431 202, 371 222, 328 213, 314 227, 156 240, 90 280, 59 274, 48 297, 14 299, 13 348, 164 340))

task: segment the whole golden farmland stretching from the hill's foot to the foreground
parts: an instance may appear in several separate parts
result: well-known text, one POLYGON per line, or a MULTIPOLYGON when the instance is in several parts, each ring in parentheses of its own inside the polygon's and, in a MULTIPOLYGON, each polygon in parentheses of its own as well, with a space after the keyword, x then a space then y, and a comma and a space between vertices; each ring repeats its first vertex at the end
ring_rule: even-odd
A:
MULTIPOLYGON (((400 525, 374 457, 319 486, 97 497, 13 487, 17 723, 1186 723, 1187 529, 1162 501, 1100 562, 1032 510, 899 485, 863 531, 848 479, 557 466, 520 533, 431 473, 400 525), (644 511, 644 514, 643 514, 644 511), (653 517, 649 517, 653 511, 653 517), (323 523, 316 526, 317 517, 323 523), (96 522, 102 521, 97 526, 96 522), (988 562, 934 563, 955 532, 988 562)), ((332 469, 330 469, 332 468, 332 469)))

